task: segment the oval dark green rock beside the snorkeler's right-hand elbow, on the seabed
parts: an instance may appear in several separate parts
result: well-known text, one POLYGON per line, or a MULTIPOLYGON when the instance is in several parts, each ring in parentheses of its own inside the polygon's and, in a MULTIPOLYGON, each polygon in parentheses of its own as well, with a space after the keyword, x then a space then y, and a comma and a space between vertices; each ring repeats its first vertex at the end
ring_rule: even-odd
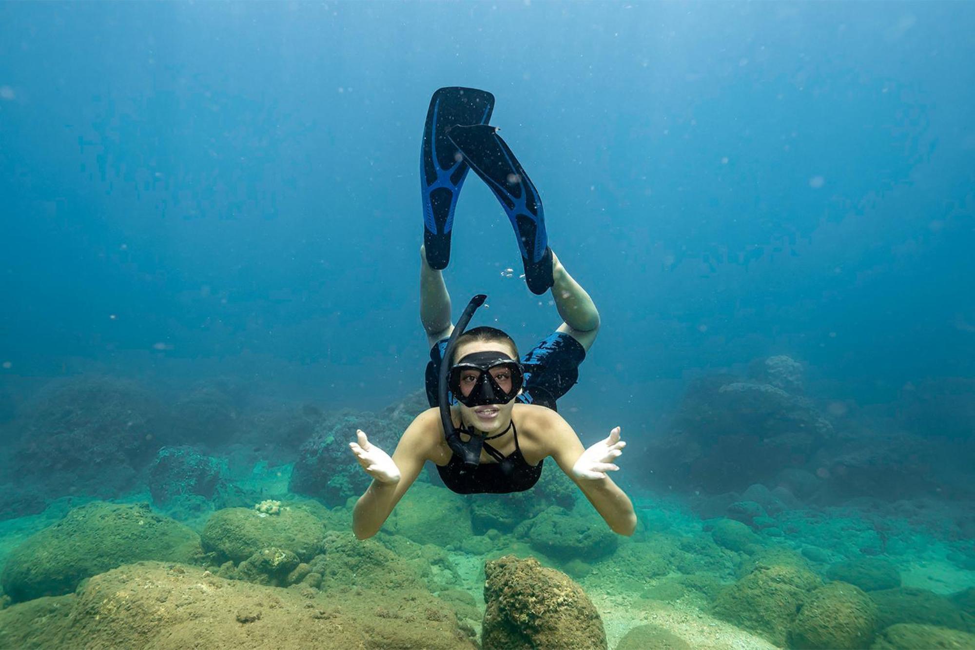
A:
POLYGON ((516 534, 527 538, 531 548, 563 562, 575 558, 592 561, 612 554, 619 544, 604 522, 558 506, 526 521, 516 534))

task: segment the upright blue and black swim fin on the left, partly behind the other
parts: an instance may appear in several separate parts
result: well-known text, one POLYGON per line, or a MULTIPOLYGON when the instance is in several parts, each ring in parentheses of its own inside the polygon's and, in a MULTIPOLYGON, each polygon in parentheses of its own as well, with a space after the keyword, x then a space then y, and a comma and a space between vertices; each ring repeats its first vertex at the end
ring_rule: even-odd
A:
POLYGON ((469 167, 447 137, 455 125, 487 124, 494 96, 476 88, 441 88, 430 99, 420 149, 423 196, 423 246, 427 264, 446 268, 450 261, 453 210, 469 167))

